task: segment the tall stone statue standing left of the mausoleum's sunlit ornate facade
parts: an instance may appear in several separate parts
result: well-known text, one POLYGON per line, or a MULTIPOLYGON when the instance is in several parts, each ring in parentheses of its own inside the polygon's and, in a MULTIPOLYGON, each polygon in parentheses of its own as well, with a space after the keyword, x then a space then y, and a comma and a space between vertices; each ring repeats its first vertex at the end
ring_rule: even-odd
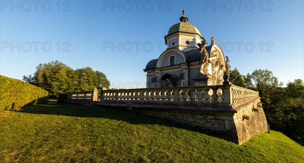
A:
POLYGON ((199 74, 207 74, 208 73, 208 64, 209 64, 209 53, 206 50, 206 45, 208 44, 206 42, 206 39, 204 37, 202 38, 202 42, 198 43, 199 46, 199 53, 201 54, 201 59, 200 59, 200 70, 199 70, 199 74))

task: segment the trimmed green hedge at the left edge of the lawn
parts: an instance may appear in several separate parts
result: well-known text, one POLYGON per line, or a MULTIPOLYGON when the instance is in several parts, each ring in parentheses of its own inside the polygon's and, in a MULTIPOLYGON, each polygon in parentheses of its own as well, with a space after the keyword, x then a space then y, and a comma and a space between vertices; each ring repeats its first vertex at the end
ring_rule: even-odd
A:
POLYGON ((44 104, 49 92, 24 81, 0 75, 0 111, 25 105, 44 104))

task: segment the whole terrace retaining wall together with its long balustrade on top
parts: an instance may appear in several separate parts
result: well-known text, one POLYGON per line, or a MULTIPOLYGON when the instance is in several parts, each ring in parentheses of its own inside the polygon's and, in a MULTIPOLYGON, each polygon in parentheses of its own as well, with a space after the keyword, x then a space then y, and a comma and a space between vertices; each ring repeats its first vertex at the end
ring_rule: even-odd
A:
POLYGON ((133 113, 195 126, 242 144, 267 131, 258 92, 234 85, 106 90, 101 106, 132 106, 133 113))

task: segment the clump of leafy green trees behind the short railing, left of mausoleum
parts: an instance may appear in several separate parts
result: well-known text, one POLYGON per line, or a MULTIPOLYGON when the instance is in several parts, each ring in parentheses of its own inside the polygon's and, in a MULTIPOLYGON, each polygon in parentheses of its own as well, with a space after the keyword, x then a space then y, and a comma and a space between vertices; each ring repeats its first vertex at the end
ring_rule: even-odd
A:
POLYGON ((59 61, 39 64, 34 74, 24 75, 23 80, 47 90, 51 95, 109 87, 109 81, 102 72, 93 71, 90 67, 75 71, 59 61))

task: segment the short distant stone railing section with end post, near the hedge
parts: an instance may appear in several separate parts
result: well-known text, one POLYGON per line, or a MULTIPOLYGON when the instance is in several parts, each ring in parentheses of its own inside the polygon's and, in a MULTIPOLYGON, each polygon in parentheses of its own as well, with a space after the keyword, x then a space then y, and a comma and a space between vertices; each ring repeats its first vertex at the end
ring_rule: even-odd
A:
POLYGON ((93 91, 74 92, 67 95, 67 101, 98 101, 98 90, 94 88, 93 91))

